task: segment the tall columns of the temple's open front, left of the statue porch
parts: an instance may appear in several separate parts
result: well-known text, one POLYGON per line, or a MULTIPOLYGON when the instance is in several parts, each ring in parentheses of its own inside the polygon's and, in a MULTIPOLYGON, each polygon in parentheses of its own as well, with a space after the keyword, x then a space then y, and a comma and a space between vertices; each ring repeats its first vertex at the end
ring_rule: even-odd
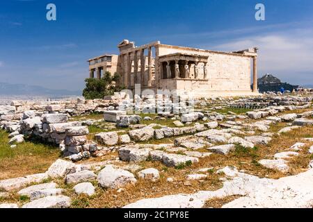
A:
MULTIPOLYGON (((147 75, 147 86, 152 86, 152 46, 147 48, 147 59, 148 59, 148 75, 147 75)), ((131 69, 134 62, 134 83, 145 85, 145 49, 139 49, 136 51, 129 52, 127 54, 121 55, 121 62, 123 67, 123 82, 125 86, 131 86, 131 69), (133 59, 132 59, 133 58, 133 59), (139 60, 141 64, 139 64, 139 60), (125 67, 126 61, 126 67, 125 67), (141 71, 138 73, 138 68, 140 67, 141 71)))

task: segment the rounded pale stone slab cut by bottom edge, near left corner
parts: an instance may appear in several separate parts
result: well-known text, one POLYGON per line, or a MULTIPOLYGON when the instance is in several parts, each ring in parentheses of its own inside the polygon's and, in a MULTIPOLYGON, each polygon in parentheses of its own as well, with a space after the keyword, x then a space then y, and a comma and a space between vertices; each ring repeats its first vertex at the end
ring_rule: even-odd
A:
POLYGON ((70 203, 71 199, 68 196, 46 196, 26 203, 22 208, 67 208, 70 207, 70 203))

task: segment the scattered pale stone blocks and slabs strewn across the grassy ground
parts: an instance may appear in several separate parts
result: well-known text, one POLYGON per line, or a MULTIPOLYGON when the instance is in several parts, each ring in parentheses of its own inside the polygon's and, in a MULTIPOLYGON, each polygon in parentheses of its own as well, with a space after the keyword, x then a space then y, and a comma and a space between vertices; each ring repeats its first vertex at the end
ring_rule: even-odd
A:
MULTIPOLYGON (((122 97, 125 99, 125 96, 122 97)), ((265 99, 261 98, 227 101, 230 107, 243 103, 244 108, 260 108, 246 112, 246 115, 233 112, 220 114, 204 108, 182 114, 180 117, 164 109, 156 117, 172 119, 176 127, 158 126, 154 123, 142 126, 143 120, 140 116, 127 115, 125 112, 115 110, 120 105, 129 108, 132 104, 114 97, 107 98, 107 101, 77 100, 65 103, 49 102, 49 104, 13 101, 11 105, 0 106, 0 126, 10 133, 10 144, 17 144, 18 147, 18 144, 24 142, 26 138, 39 137, 42 142, 57 144, 63 157, 72 160, 72 162, 56 160, 45 173, 0 180, 0 189, 4 192, 17 191, 20 196, 28 196, 30 199, 29 203, 22 206, 5 203, 0 207, 70 207, 70 197, 65 196, 65 190, 58 187, 54 180, 62 179, 65 184, 74 185, 73 191, 76 194, 93 196, 96 184, 103 189, 122 189, 127 185, 136 185, 138 180, 156 182, 160 179, 161 171, 154 168, 143 169, 137 165, 139 162, 158 161, 166 167, 180 169, 199 162, 201 158, 208 157, 212 153, 228 155, 237 146, 251 149, 258 144, 266 145, 273 137, 273 133, 267 132, 271 124, 278 122, 287 124, 285 128, 279 130, 278 136, 303 126, 313 125, 313 111, 282 114, 286 110, 310 108, 311 97, 290 96, 286 99, 283 96, 273 98, 267 95, 265 99), (69 112, 69 109, 74 111, 69 112), (88 127, 85 126, 88 125, 87 121, 68 121, 71 115, 90 112, 102 112, 104 119, 113 121, 117 127, 130 129, 122 134, 122 130, 97 133, 94 136, 95 142, 90 141, 87 139, 88 127), (150 139, 168 137, 173 137, 172 144, 148 144, 150 139), (138 142, 147 142, 147 144, 138 142), (94 164, 73 163, 99 156, 99 151, 117 151, 119 160, 94 164), (115 162, 119 164, 115 165, 115 162), (44 182, 48 178, 52 181, 44 182), (33 185, 34 183, 37 185, 33 185)), ((202 101, 200 106, 206 107, 211 102, 202 101)), ((145 100, 144 105, 147 104, 151 105, 149 99, 145 100)), ((152 108, 150 107, 150 110, 152 108)), ((269 169, 287 172, 290 158, 299 155, 298 152, 303 151, 309 142, 309 140, 301 141, 286 147, 285 151, 275 153, 268 159, 259 160, 259 164, 269 169)), ((313 153, 312 149, 311 146, 308 153, 313 153)), ((310 167, 313 168, 312 161, 308 168, 310 167)), ((205 180, 209 170, 211 169, 204 168, 190 173, 186 176, 186 181, 205 180)), ((225 173, 227 180, 223 188, 216 191, 143 199, 125 207, 203 207, 205 201, 210 198, 231 195, 243 197, 224 207, 312 207, 312 169, 298 176, 279 180, 257 178, 232 167, 225 167, 217 173, 220 172, 225 173)), ((168 182, 173 181, 173 178, 168 178, 168 182)))

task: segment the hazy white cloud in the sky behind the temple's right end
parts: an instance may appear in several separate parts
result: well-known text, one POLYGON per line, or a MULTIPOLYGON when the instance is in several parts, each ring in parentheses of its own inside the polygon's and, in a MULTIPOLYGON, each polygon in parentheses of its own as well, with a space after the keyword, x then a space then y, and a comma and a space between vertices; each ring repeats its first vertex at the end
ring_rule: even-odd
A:
POLYGON ((242 37, 211 49, 237 51, 252 46, 259 48, 259 76, 271 73, 291 83, 313 83, 313 29, 242 37))

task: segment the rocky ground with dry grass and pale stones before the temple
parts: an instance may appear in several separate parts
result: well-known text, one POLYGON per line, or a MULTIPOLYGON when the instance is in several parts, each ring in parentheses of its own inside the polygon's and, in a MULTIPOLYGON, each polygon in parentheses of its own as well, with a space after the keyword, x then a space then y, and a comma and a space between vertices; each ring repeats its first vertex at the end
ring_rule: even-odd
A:
POLYGON ((313 206, 310 96, 202 100, 186 114, 47 106, 0 109, 0 207, 313 206))

